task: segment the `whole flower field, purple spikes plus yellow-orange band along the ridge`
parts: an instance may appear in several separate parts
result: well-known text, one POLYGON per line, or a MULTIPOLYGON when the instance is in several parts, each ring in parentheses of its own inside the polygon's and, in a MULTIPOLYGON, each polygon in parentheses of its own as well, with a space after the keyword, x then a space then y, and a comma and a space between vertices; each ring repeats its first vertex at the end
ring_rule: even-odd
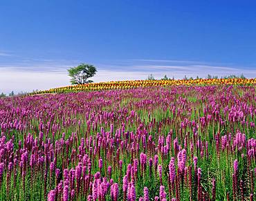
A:
POLYGON ((0 99, 0 200, 254 200, 255 84, 108 82, 0 99))

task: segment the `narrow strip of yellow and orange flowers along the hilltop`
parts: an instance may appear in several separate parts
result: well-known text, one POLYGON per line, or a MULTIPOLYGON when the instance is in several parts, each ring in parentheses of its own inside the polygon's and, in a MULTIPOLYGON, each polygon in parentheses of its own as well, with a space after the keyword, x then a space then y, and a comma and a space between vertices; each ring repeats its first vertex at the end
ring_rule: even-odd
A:
POLYGON ((64 86, 60 88, 51 88, 50 90, 42 90, 33 94, 40 93, 64 93, 76 92, 83 90, 115 90, 115 89, 129 89, 148 86, 172 86, 172 85, 254 85, 254 79, 169 79, 169 80, 129 80, 129 81, 111 81, 98 82, 89 84, 77 84, 71 86, 64 86))

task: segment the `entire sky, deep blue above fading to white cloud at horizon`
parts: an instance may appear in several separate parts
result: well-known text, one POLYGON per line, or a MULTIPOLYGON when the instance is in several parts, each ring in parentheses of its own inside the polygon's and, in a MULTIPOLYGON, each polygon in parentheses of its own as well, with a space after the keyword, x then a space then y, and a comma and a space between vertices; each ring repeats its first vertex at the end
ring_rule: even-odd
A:
POLYGON ((152 73, 256 77, 254 1, 0 1, 0 92, 66 86, 66 68, 95 82, 152 73))

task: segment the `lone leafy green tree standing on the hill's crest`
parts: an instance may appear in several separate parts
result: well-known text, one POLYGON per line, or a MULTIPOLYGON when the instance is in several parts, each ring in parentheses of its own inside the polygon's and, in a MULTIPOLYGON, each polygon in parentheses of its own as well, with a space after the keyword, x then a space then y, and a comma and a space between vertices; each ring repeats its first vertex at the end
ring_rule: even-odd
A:
POLYGON ((96 74, 96 67, 89 64, 80 64, 79 66, 68 69, 68 76, 71 77, 71 84, 86 84, 93 82, 88 80, 96 74))

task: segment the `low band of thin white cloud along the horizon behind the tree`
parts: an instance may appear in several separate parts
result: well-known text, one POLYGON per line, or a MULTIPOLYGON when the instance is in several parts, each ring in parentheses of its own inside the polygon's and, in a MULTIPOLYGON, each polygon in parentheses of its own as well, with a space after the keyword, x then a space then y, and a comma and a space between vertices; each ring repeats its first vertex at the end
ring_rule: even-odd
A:
MULTIPOLYGON (((131 65, 113 66, 98 65, 98 73, 93 77, 94 82, 147 79, 149 74, 153 74, 156 79, 161 79, 164 75, 182 79, 187 77, 205 77, 206 75, 241 75, 246 77, 256 77, 256 69, 231 68, 226 66, 161 66, 161 65, 131 65)), ((58 66, 12 66, 0 67, 0 93, 15 93, 20 91, 32 91, 35 89, 44 90, 60 86, 69 85, 69 77, 65 65, 58 66)))

